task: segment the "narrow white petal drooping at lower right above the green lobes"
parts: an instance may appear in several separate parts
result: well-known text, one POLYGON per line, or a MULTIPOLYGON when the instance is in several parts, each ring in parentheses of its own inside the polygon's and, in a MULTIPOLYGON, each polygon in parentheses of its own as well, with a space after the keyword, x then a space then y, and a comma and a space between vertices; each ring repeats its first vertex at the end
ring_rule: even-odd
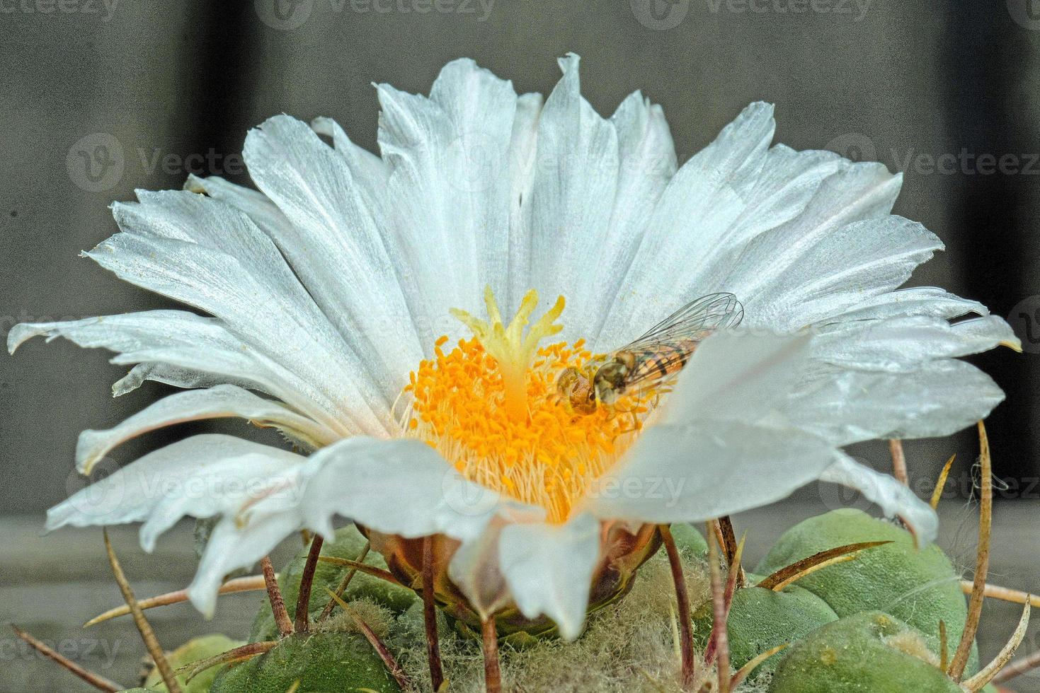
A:
POLYGON ((935 540, 939 530, 939 517, 935 510, 891 475, 876 472, 839 453, 835 462, 824 470, 820 480, 856 488, 864 498, 881 506, 887 516, 899 515, 906 521, 921 543, 935 540))

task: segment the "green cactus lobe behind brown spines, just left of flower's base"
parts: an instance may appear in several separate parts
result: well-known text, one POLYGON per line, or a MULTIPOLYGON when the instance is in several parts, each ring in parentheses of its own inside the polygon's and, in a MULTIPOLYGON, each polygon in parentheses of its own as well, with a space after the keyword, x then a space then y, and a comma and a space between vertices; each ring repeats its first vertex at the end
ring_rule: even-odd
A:
MULTIPOLYGON (((361 554, 365 541, 365 537, 353 525, 343 527, 336 530, 335 541, 324 542, 324 545, 321 547, 321 555, 354 560, 361 554)), ((285 608, 289 612, 289 618, 294 618, 296 615, 296 597, 300 595, 300 579, 304 571, 304 564, 307 562, 307 553, 308 548, 302 549, 279 572, 278 584, 282 588, 282 596, 285 599, 285 608)), ((383 557, 375 552, 368 554, 365 563, 384 570, 387 567, 383 557)), ((314 583, 311 587, 310 613, 312 617, 316 617, 329 603, 329 592, 326 589, 336 589, 347 569, 333 563, 318 562, 317 569, 314 571, 314 583)), ((356 572, 350 580, 350 586, 343 593, 343 598, 350 602, 362 597, 384 606, 394 613, 404 612, 418 599, 415 592, 410 589, 363 572, 356 572)), ((275 623, 275 616, 270 611, 270 603, 265 596, 260 611, 253 621, 250 642, 275 640, 277 637, 278 625, 275 623)))

